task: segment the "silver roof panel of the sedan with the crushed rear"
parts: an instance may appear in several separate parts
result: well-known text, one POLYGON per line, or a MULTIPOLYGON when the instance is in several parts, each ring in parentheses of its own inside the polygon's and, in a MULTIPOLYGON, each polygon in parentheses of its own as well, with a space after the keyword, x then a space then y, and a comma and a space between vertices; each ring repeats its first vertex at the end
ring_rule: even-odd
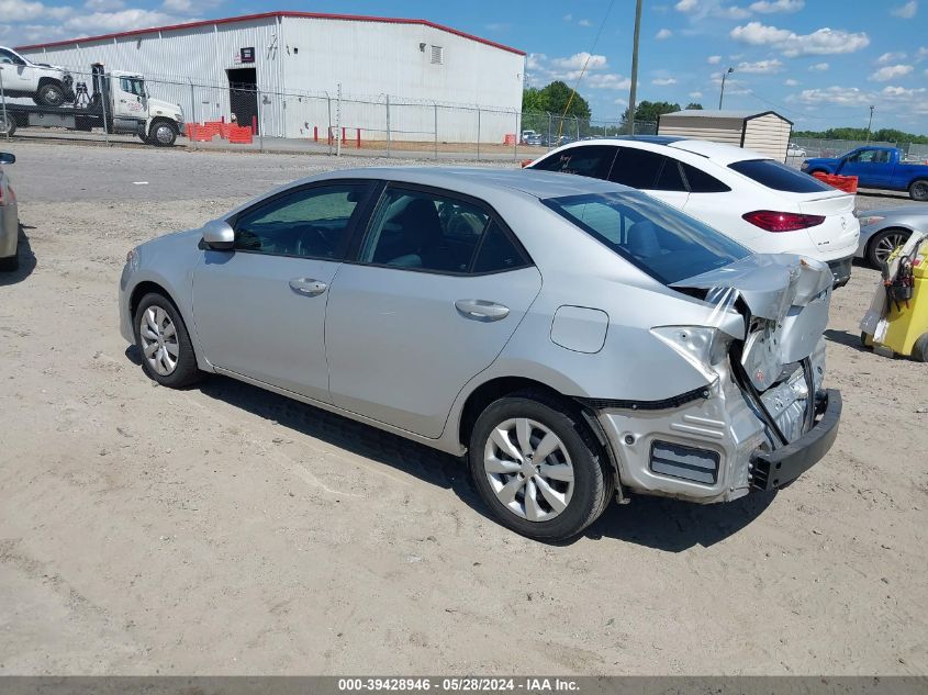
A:
POLYGON ((304 182, 324 179, 382 179, 400 183, 416 183, 458 191, 477 198, 492 198, 500 189, 519 191, 540 200, 578 193, 633 192, 620 183, 572 173, 555 173, 533 169, 492 169, 485 167, 365 167, 339 169, 304 182))

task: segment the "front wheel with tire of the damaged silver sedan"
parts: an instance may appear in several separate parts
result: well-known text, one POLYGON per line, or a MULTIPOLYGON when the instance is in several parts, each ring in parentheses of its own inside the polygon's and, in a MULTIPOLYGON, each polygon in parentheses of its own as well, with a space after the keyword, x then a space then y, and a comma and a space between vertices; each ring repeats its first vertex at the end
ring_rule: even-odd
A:
POLYGON ((143 296, 132 323, 142 369, 149 379, 180 389, 201 378, 190 334, 167 298, 154 292, 143 296))

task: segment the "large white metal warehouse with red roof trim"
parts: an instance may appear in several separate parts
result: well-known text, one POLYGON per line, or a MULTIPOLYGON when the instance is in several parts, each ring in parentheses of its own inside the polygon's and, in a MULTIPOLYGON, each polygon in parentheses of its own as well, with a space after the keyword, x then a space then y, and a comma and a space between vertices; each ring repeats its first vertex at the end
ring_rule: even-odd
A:
POLYGON ((138 71, 153 97, 179 103, 189 121, 234 113, 281 137, 339 124, 369 139, 388 128, 395 139, 431 139, 437 124, 445 142, 473 142, 481 130, 480 139, 502 141, 518 132, 525 72, 524 52, 426 20, 306 12, 18 49, 75 72, 92 63, 138 71))

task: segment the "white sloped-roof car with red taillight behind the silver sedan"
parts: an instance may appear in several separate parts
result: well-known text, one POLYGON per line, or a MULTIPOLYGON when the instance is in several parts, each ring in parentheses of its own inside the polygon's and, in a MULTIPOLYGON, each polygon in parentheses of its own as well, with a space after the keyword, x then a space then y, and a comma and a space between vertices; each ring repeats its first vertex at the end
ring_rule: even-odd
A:
POLYGON ((757 253, 825 261, 835 287, 850 279, 860 236, 853 195, 760 153, 644 135, 572 143, 527 168, 637 188, 757 253))

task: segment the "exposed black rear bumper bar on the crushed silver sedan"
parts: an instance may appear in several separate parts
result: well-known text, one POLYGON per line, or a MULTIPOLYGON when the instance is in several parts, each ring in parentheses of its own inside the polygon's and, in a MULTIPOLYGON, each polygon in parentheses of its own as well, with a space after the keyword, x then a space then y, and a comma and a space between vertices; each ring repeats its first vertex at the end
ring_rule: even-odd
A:
POLYGON ((838 436, 841 419, 841 393, 826 392, 825 413, 802 437, 775 451, 758 451, 751 457, 749 480, 756 490, 776 490, 818 463, 838 436))

